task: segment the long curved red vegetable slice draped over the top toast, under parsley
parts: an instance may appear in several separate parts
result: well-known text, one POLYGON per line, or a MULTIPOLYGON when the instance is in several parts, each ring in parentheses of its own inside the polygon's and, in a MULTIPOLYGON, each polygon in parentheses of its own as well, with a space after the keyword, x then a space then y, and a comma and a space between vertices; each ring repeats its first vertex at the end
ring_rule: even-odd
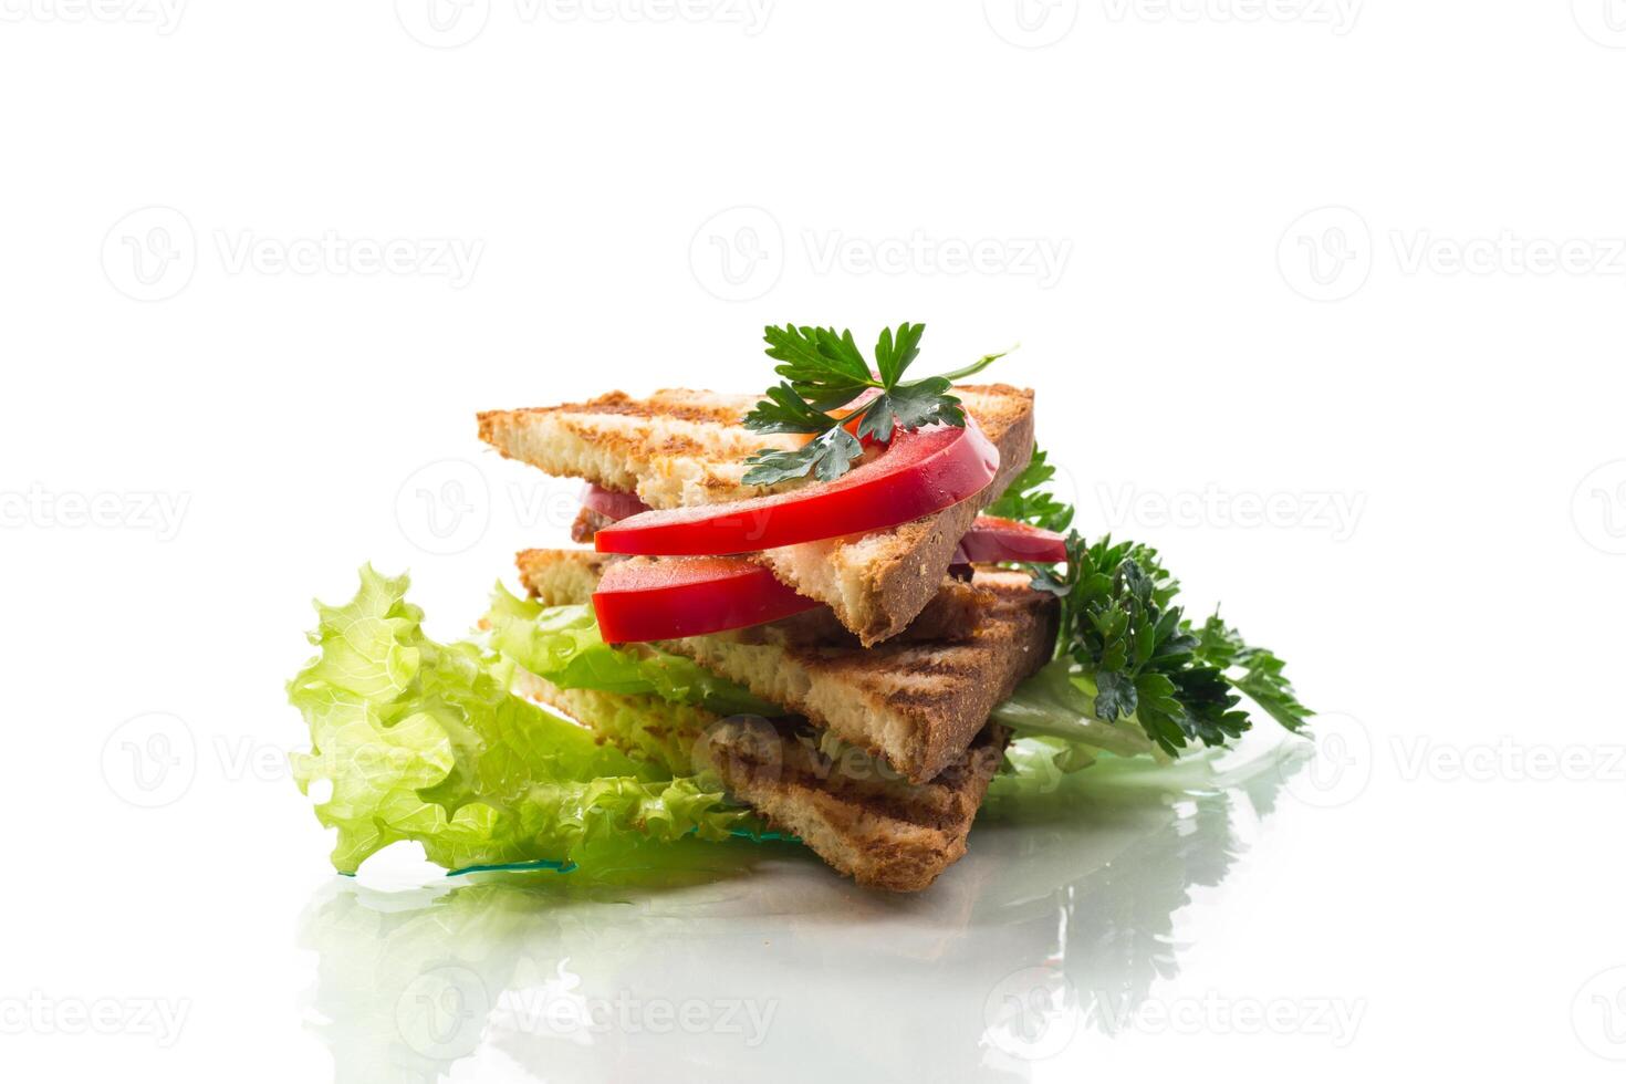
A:
POLYGON ((898 432, 885 453, 833 483, 771 497, 644 512, 598 531, 600 553, 730 554, 859 535, 982 492, 1000 452, 974 421, 898 432))

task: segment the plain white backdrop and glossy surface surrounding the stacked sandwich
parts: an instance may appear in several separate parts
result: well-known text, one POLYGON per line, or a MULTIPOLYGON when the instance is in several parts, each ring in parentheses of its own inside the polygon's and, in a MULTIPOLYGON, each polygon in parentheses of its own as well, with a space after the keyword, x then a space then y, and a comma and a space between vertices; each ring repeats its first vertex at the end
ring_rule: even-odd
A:
POLYGON ((1618 1079, 1626 5, 642 3, 0 0, 5 1074, 1618 1079), (327 871, 309 598, 410 567, 455 635, 574 492, 476 410, 753 390, 785 320, 1020 341, 1081 525, 1283 653, 1320 759, 1234 839, 982 827, 922 900, 502 905, 589 988, 782 996, 763 1047, 403 1042, 481 949, 327 871), (1197 1024, 1076 1025, 1107 957, 1197 1024))

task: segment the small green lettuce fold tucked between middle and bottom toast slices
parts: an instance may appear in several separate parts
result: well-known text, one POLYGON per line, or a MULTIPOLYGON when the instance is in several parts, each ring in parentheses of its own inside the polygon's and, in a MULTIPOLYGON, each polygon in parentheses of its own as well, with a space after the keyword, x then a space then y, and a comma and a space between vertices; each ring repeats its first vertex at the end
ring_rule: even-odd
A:
POLYGON ((680 655, 610 647, 598 634, 592 606, 543 606, 498 583, 486 624, 494 650, 561 689, 655 696, 717 715, 785 713, 680 655))

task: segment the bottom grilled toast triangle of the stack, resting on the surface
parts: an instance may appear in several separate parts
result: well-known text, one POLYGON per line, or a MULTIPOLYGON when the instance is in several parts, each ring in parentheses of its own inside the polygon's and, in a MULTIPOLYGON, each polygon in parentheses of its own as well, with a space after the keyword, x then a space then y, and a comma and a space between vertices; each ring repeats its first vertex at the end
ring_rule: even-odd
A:
POLYGON ((769 824, 793 832, 833 868, 859 884, 917 892, 966 853, 971 822, 998 770, 1006 733, 989 726, 976 744, 925 785, 911 785, 860 756, 826 756, 793 722, 730 718, 672 705, 654 697, 624 697, 559 689, 530 673, 519 676, 527 696, 592 726, 628 709, 647 717, 644 744, 626 748, 624 728, 598 731, 629 754, 711 767, 728 793, 769 824))

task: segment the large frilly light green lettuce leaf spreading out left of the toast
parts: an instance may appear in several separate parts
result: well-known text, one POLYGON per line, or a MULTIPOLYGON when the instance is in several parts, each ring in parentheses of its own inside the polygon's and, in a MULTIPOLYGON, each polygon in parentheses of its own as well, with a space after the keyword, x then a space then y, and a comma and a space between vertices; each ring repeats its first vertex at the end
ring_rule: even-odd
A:
POLYGON ((288 684, 312 749, 317 819, 338 832, 333 866, 354 873, 400 840, 449 869, 600 861, 745 821, 720 790, 633 759, 509 691, 512 663, 424 635, 406 577, 361 570, 343 606, 317 605, 319 648, 288 684))

